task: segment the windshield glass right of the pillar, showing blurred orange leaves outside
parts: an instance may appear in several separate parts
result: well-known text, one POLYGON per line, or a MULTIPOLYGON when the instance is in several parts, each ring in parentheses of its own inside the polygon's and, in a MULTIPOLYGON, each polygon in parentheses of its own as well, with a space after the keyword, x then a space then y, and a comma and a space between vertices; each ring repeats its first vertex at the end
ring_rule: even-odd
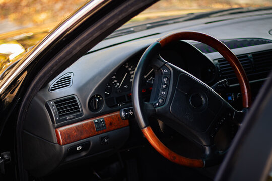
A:
POLYGON ((271 6, 272 0, 161 0, 132 18, 127 24, 159 18, 193 15, 201 12, 233 9, 240 9, 241 11, 241 8, 250 11, 271 6))

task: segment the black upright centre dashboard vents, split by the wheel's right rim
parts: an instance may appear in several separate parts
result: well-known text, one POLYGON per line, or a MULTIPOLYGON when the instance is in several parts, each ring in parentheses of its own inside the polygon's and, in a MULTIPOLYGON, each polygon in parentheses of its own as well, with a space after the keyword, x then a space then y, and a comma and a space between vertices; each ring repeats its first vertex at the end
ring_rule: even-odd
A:
MULTIPOLYGON (((238 55, 249 81, 263 79, 272 69, 272 50, 238 55)), ((230 64, 224 59, 214 60, 218 66, 220 79, 228 79, 230 84, 238 83, 230 64)))

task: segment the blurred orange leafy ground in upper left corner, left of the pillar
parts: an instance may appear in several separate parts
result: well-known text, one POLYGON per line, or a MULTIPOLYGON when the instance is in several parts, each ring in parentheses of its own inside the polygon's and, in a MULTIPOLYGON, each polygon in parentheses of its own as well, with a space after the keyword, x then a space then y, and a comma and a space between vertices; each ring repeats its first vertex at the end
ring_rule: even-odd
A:
POLYGON ((86 0, 0 0, 0 18, 21 25, 64 19, 86 0))

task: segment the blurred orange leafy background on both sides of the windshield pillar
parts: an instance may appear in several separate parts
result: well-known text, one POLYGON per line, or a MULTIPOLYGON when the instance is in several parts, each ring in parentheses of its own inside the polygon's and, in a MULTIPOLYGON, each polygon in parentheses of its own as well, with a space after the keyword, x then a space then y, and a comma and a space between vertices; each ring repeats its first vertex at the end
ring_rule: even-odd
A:
MULTIPOLYGON (((0 0, 0 19, 34 26, 59 22, 86 0, 0 0)), ((271 0, 163 0, 147 11, 173 9, 226 9, 271 5, 271 0)))

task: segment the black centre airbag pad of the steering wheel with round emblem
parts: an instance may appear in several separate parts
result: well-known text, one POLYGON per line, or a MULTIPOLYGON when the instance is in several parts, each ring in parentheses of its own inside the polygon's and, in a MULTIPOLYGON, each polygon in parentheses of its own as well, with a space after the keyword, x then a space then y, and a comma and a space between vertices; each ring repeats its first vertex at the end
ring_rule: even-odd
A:
POLYGON ((207 86, 181 73, 178 78, 170 112, 178 121, 198 132, 205 132, 213 122, 223 102, 207 86))

